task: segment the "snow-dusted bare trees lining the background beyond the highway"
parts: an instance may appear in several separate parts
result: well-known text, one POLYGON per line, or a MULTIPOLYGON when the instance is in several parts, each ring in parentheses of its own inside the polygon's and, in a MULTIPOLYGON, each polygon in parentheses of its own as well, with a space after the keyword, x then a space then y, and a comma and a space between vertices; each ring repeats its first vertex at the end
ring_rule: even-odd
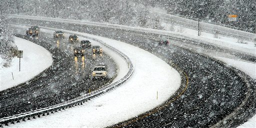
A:
POLYGON ((148 8, 255 31, 255 0, 1 0, 0 11, 161 28, 148 8), (237 21, 228 21, 236 14, 237 21), (154 23, 154 24, 152 24, 154 23))

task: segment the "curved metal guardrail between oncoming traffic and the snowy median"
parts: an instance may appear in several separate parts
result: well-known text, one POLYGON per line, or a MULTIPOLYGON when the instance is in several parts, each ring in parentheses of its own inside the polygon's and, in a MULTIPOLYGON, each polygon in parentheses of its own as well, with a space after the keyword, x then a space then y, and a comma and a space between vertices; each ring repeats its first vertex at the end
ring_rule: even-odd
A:
MULTIPOLYGON (((91 37, 92 38, 92 37, 91 37)), ((59 111, 61 109, 65 109, 68 107, 72 107, 75 105, 81 105, 82 103, 84 103, 87 100, 90 100, 91 98, 98 96, 102 93, 105 93, 109 90, 112 90, 113 88, 115 88, 116 86, 121 85, 122 83, 124 83, 133 73, 134 67, 133 64, 131 62, 131 60, 129 59, 129 57, 127 55, 125 55, 124 53, 122 53, 121 51, 119 51, 118 49, 104 43, 103 41, 96 39, 96 38, 92 38, 93 40, 96 40, 98 42, 100 42, 101 44, 103 44, 104 46, 108 47, 109 49, 112 49, 113 51, 115 51, 117 54, 119 54, 121 57, 123 57, 126 62, 127 62, 127 66, 128 66, 128 72, 126 73, 126 75, 124 75, 121 79, 110 83, 102 88, 99 88, 95 91, 92 91, 91 93, 86 93, 85 95, 79 96, 77 98, 68 100, 68 101, 64 101, 55 105, 51 105, 48 107, 44 107, 44 108, 40 108, 40 109, 35 109, 35 110, 31 110, 31 111, 27 111, 24 113, 20 113, 20 114, 15 114, 15 115, 11 115, 11 116, 7 116, 7 117, 3 117, 0 118, 0 127, 2 127, 2 125, 8 125, 8 123, 14 123, 19 122, 20 120, 25 121, 25 119, 30 120, 30 118, 35 118, 40 117, 41 115, 44 116, 49 115, 49 113, 54 113, 56 111, 59 111)))

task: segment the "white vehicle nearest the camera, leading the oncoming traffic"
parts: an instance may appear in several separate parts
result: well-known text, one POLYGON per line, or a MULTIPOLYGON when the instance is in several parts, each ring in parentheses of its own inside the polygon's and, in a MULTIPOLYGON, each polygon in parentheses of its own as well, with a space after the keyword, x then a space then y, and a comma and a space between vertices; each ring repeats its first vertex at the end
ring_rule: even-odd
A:
POLYGON ((94 66, 94 68, 92 69, 92 72, 91 72, 92 79, 107 78, 107 72, 108 72, 107 65, 98 64, 94 66))

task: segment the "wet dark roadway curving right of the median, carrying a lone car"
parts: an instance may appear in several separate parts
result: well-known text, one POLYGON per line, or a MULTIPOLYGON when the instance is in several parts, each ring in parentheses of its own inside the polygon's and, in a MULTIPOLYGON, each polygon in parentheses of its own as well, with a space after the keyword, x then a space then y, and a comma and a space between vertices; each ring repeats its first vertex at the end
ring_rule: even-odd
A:
MULTIPOLYGON (((155 47, 155 43, 161 37, 159 34, 56 21, 38 22, 28 19, 11 19, 11 21, 86 32, 124 41, 146 49, 168 63, 170 61, 175 63, 187 73, 188 87, 174 102, 163 109, 158 109, 153 114, 144 113, 114 126, 209 127, 214 125, 234 127, 256 113, 256 106, 253 103, 256 102, 256 82, 254 79, 216 59, 178 45, 170 44, 168 47, 155 47), (222 122, 221 120, 233 111, 235 111, 235 116, 226 119, 226 123, 218 123, 222 122)), ((218 48, 210 44, 196 42, 194 45, 204 48, 218 48)), ((256 60, 255 56, 244 53, 237 52, 235 55, 253 62, 256 60)))

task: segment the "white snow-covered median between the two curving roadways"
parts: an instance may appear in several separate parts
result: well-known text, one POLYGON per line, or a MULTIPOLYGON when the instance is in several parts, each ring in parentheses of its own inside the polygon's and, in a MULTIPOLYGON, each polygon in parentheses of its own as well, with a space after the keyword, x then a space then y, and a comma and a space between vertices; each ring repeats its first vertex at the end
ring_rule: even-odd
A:
MULTIPOLYGON (((103 40, 126 54, 134 64, 131 78, 116 89, 81 106, 65 109, 50 116, 10 124, 10 127, 105 127, 156 107, 179 88, 179 73, 155 55, 124 42, 75 33, 103 40)), ((92 44, 95 45, 97 42, 92 41, 92 44)), ((113 55, 110 52, 107 54, 113 55)), ((118 62, 117 64, 119 67, 126 66, 118 62)))

